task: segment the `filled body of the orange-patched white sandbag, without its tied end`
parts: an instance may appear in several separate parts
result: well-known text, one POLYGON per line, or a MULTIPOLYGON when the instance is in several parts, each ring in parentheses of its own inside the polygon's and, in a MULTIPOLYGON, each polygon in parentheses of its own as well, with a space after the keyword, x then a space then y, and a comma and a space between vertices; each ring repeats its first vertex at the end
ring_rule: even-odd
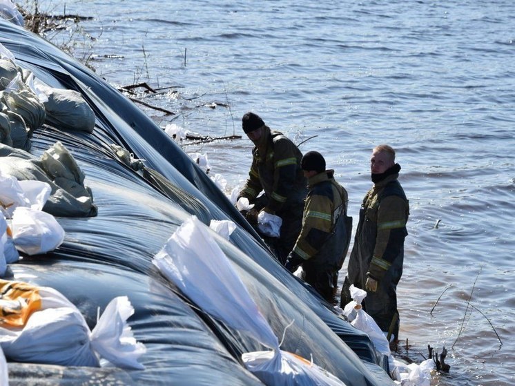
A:
POLYGON ((59 291, 0 280, 0 346, 17 362, 98 367, 89 328, 59 291))

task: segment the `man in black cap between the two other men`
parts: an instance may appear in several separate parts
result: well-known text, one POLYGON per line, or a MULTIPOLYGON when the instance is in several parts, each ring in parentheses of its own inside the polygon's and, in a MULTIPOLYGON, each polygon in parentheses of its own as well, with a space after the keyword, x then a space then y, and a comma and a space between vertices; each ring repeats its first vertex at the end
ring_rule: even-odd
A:
POLYGON ((352 226, 347 229, 347 191, 334 180, 333 170, 325 170, 325 160, 316 151, 302 157, 302 171, 308 179, 302 231, 288 256, 286 268, 294 271, 302 264, 304 281, 334 302, 338 271, 342 267, 352 226))

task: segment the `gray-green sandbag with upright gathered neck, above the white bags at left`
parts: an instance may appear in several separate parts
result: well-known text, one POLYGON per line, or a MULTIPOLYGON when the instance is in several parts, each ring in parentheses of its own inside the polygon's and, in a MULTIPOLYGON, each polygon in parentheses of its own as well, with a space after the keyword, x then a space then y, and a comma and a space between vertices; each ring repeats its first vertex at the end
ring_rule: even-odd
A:
POLYGON ((97 215, 93 194, 84 186, 84 173, 59 142, 46 151, 41 160, 3 144, 0 144, 0 157, 2 174, 12 175, 19 181, 37 180, 50 185, 52 192, 43 211, 61 217, 97 215))

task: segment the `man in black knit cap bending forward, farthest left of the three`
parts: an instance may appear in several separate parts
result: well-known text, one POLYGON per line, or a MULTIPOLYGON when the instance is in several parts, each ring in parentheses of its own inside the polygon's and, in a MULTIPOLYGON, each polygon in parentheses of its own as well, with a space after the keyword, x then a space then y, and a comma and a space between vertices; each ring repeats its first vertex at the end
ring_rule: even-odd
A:
POLYGON ((242 128, 254 148, 249 178, 238 198, 246 197, 254 204, 254 208, 246 214, 251 224, 257 222, 259 211, 282 219, 280 237, 265 241, 284 264, 302 226, 302 210, 307 194, 307 182, 300 168, 302 153, 290 139, 278 131, 271 131, 254 113, 243 116, 242 128), (257 197, 261 191, 264 194, 257 197))

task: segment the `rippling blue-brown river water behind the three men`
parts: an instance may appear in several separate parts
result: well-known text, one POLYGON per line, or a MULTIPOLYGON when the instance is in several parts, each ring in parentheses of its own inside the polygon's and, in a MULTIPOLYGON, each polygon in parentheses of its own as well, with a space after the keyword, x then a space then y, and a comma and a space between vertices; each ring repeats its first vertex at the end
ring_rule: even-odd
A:
MULTIPOLYGON (((242 135, 253 110, 320 151, 355 225, 376 144, 396 148, 411 216, 398 287, 398 355, 447 348, 432 385, 514 385, 515 3, 498 1, 40 1, 93 17, 73 35, 110 84, 163 128, 242 135), (438 222, 439 221, 439 222, 438 222), (438 226, 436 226, 438 222, 438 226), (405 346, 405 344, 403 344, 405 346)), ((61 37, 66 32, 61 32, 61 37)), ((55 36, 55 39, 58 37, 55 36)), ((226 191, 251 163, 246 137, 183 143, 226 191)), ((344 263, 341 277, 346 271, 344 263)))

